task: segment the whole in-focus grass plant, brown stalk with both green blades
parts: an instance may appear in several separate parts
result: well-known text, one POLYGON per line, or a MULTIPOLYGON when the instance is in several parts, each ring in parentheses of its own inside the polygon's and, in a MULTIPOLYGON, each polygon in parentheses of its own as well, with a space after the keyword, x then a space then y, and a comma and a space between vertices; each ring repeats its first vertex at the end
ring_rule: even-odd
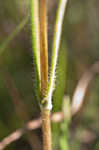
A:
POLYGON ((50 113, 66 4, 67 0, 59 0, 48 80, 47 1, 30 0, 33 63, 35 66, 36 95, 42 112, 43 150, 52 149, 50 113))

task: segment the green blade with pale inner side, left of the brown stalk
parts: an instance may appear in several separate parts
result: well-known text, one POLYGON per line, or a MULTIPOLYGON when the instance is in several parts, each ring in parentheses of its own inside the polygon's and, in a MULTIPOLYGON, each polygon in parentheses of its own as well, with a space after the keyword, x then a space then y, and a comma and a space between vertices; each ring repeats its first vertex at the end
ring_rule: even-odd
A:
POLYGON ((35 90, 40 101, 40 28, 39 28, 39 0, 30 0, 30 19, 32 30, 33 63, 35 69, 35 90))

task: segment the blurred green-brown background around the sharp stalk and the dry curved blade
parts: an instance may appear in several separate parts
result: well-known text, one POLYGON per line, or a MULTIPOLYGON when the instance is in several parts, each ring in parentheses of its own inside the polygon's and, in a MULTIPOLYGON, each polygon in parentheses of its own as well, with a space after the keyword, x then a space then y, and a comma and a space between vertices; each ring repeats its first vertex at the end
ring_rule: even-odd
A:
MULTIPOLYGON (((58 0, 48 1, 49 66, 57 5, 58 0)), ((69 150, 99 149, 98 11, 97 0, 69 0, 64 17, 52 113, 62 110, 64 95, 68 95, 72 103, 76 87, 79 89, 81 86, 86 90, 82 107, 71 118, 68 135, 67 132, 64 134, 65 138, 68 136, 69 150)), ((39 116, 40 109, 35 96, 29 0, 1 1, 0 141, 22 128, 27 121, 39 116), (20 23, 22 25, 17 29, 20 23)), ((58 142, 62 137, 61 124, 52 124, 54 150, 63 150, 58 142)), ((5 149, 41 150, 41 128, 27 132, 5 149)))

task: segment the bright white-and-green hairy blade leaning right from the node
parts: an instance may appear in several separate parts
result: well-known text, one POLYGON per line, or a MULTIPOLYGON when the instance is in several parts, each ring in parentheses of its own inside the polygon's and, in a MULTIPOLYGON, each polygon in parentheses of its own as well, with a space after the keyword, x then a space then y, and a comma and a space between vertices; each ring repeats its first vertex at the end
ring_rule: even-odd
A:
POLYGON ((48 107, 51 109, 51 99, 53 94, 53 87, 55 82, 55 70, 57 64, 58 51, 60 46, 61 32, 62 32, 62 23, 64 18, 64 12, 66 8, 67 0, 59 0, 59 7, 56 16, 56 23, 54 29, 54 39, 53 39, 53 48, 52 48, 52 60, 51 60, 51 70, 49 77, 49 85, 46 99, 48 99, 48 107))

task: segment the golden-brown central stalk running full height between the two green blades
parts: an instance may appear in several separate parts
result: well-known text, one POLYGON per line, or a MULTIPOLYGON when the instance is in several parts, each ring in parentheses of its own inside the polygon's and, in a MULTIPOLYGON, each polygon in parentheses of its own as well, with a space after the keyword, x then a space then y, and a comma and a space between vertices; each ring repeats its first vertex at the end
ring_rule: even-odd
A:
POLYGON ((43 101, 48 88, 48 41, 47 41, 47 1, 39 0, 40 21, 40 69, 41 69, 41 110, 43 150, 51 150, 50 110, 46 108, 48 100, 43 101))

